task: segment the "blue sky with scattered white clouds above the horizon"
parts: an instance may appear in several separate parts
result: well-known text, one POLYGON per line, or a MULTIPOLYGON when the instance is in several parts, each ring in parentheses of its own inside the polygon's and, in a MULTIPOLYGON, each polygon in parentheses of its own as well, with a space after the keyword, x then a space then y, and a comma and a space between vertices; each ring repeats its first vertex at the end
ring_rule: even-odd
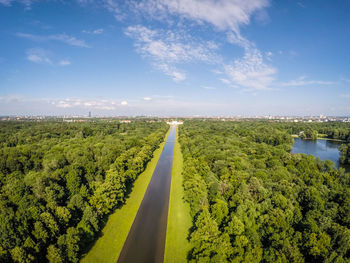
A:
POLYGON ((350 116, 348 0, 0 0, 0 115, 350 116))

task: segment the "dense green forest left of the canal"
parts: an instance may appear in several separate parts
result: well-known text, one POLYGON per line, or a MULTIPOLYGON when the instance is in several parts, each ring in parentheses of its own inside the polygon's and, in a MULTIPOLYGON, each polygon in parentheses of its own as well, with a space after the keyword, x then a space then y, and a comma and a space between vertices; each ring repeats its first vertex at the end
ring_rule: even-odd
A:
POLYGON ((0 262, 77 262, 167 130, 0 122, 0 262))

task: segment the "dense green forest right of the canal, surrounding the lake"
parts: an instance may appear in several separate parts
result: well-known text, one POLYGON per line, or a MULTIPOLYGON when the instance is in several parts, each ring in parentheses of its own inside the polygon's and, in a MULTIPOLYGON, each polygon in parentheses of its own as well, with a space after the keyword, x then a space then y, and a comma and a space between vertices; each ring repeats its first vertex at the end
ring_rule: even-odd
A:
POLYGON ((190 262, 350 262, 350 174, 290 153, 307 128, 349 141, 337 123, 184 122, 190 262))

